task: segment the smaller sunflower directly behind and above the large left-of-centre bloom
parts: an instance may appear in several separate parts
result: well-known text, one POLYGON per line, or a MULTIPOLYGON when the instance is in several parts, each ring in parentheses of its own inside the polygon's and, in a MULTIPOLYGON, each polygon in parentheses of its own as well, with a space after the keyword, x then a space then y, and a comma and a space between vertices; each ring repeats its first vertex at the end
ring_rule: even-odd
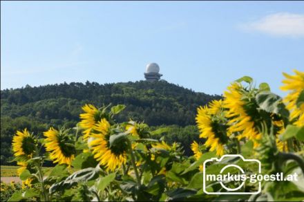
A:
POLYGON ((84 135, 84 140, 88 140, 88 137, 91 134, 92 129, 95 127, 95 124, 100 120, 101 112, 94 107, 92 104, 86 104, 82 107, 82 110, 86 113, 81 113, 80 118, 82 119, 79 123, 79 126, 84 129, 82 134, 84 135))

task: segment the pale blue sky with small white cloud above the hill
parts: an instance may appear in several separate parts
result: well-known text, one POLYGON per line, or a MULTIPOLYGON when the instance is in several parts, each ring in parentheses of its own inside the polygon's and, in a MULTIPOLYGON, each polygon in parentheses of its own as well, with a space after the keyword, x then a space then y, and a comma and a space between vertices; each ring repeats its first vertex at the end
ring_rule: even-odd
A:
POLYGON ((304 1, 1 1, 1 89, 144 79, 220 94, 249 75, 278 94, 304 71, 304 1))

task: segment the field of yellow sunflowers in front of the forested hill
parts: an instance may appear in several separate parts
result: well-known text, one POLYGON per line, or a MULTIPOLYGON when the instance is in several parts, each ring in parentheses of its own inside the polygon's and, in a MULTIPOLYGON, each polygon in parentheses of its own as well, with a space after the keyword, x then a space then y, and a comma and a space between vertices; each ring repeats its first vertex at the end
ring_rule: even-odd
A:
POLYGON ((245 76, 227 87, 222 100, 199 107, 196 122, 205 144, 189 145, 190 157, 179 143, 156 139, 162 129, 151 131, 133 120, 115 122, 122 104, 86 104, 79 124, 51 127, 44 138, 17 131, 12 149, 22 185, 12 193, 1 183, 1 201, 6 190, 10 199, 3 200, 8 201, 303 201, 304 72, 284 75, 285 98, 245 76), (247 194, 207 194, 225 190, 220 181, 205 183, 205 172, 219 173, 231 163, 255 172, 236 158, 203 166, 225 154, 260 160, 262 174, 296 173, 298 181, 262 181, 260 187, 226 181, 247 194), (56 166, 46 173, 42 166, 49 160, 56 166))

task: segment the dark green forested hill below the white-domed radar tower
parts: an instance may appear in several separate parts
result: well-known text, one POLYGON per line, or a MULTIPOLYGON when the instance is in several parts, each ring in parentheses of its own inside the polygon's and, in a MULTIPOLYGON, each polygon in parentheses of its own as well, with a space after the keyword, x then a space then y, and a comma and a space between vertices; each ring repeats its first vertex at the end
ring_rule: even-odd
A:
MULTIPOLYGON (((125 104, 118 121, 144 121, 151 126, 195 124, 196 109, 220 95, 196 93, 182 86, 159 82, 116 84, 53 84, 1 91, 1 147, 10 147, 16 129, 27 127, 36 133, 50 125, 74 127, 86 103, 125 104)), ((3 162, 1 150, 1 162, 3 162)), ((6 153, 6 152, 4 152, 6 153)))

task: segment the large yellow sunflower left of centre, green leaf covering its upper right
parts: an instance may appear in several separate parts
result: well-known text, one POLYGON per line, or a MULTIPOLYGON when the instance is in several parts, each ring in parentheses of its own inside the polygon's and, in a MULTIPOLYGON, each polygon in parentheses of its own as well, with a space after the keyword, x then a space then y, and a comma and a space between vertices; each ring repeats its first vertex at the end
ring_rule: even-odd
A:
POLYGON ((94 158, 99 161, 100 165, 106 166, 106 170, 115 170, 126 163, 127 143, 120 146, 116 145, 110 148, 110 123, 106 118, 102 118, 97 122, 95 131, 91 134, 91 140, 88 140, 88 145, 91 147, 94 158))

